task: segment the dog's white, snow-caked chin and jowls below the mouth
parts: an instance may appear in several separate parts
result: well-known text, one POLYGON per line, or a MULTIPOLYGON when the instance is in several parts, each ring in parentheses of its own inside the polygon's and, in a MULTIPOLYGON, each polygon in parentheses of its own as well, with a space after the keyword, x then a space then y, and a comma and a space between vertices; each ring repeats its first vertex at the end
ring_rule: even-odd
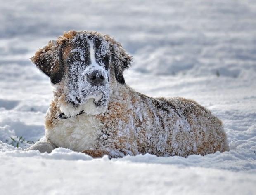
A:
POLYGON ((81 103, 66 102, 60 105, 60 110, 68 117, 76 116, 81 111, 88 115, 98 115, 107 111, 107 105, 102 99, 90 98, 81 103))

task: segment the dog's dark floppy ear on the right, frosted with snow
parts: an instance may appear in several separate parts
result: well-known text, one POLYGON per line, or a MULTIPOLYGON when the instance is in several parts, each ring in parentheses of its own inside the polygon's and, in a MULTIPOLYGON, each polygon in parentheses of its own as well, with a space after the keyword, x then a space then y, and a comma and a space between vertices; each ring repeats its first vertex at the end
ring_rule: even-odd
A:
POLYGON ((115 70, 116 81, 125 84, 123 78, 123 71, 126 68, 130 67, 130 63, 133 58, 129 56, 126 51, 123 49, 122 45, 119 42, 116 42, 113 38, 107 35, 107 40, 111 43, 112 49, 112 61, 115 70))

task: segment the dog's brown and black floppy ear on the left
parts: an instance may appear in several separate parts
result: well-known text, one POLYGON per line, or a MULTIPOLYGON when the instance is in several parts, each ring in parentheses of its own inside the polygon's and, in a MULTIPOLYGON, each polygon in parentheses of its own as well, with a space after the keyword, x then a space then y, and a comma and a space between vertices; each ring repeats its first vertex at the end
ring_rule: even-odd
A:
POLYGON ((49 41, 48 45, 39 49, 31 61, 50 77, 53 84, 59 83, 64 75, 64 65, 61 57, 62 48, 56 41, 49 41))

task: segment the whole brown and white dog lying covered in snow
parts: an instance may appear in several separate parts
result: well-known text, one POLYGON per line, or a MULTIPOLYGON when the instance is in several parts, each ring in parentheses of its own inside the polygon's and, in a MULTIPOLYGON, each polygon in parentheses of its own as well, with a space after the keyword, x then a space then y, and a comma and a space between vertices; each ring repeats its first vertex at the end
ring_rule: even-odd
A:
POLYGON ((125 83, 132 57, 109 35, 65 32, 31 61, 49 78, 53 100, 46 142, 31 150, 63 147, 92 157, 206 155, 227 151, 221 120, 197 102, 152 98, 125 83))

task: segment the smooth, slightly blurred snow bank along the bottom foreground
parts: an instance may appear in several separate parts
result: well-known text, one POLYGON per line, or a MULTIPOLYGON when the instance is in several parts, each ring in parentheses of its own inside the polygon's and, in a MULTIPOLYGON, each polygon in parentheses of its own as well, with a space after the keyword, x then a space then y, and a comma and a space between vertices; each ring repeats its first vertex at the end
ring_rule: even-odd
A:
POLYGON ((70 192, 113 195, 221 194, 222 192, 253 194, 254 190, 251 186, 256 181, 255 177, 248 173, 201 167, 195 169, 174 165, 112 162, 106 157, 93 161, 74 160, 72 163, 67 160, 58 160, 57 164, 55 157, 48 160, 33 157, 29 167, 26 164, 28 159, 24 157, 18 159, 19 167, 13 167, 17 157, 12 159, 4 157, 3 160, 8 162, 3 165, 5 170, 10 170, 7 172, 5 185, 13 186, 5 188, 4 183, 1 182, 3 194, 14 194, 17 191, 21 195, 26 194, 20 190, 21 188, 28 188, 29 193, 38 195, 70 192), (20 183, 21 178, 17 178, 17 175, 26 180, 26 183, 20 183), (28 177, 29 175, 33 177, 28 177), (42 185, 42 179, 47 181, 44 185, 42 185), (181 180, 182 185, 180 185, 181 180))

